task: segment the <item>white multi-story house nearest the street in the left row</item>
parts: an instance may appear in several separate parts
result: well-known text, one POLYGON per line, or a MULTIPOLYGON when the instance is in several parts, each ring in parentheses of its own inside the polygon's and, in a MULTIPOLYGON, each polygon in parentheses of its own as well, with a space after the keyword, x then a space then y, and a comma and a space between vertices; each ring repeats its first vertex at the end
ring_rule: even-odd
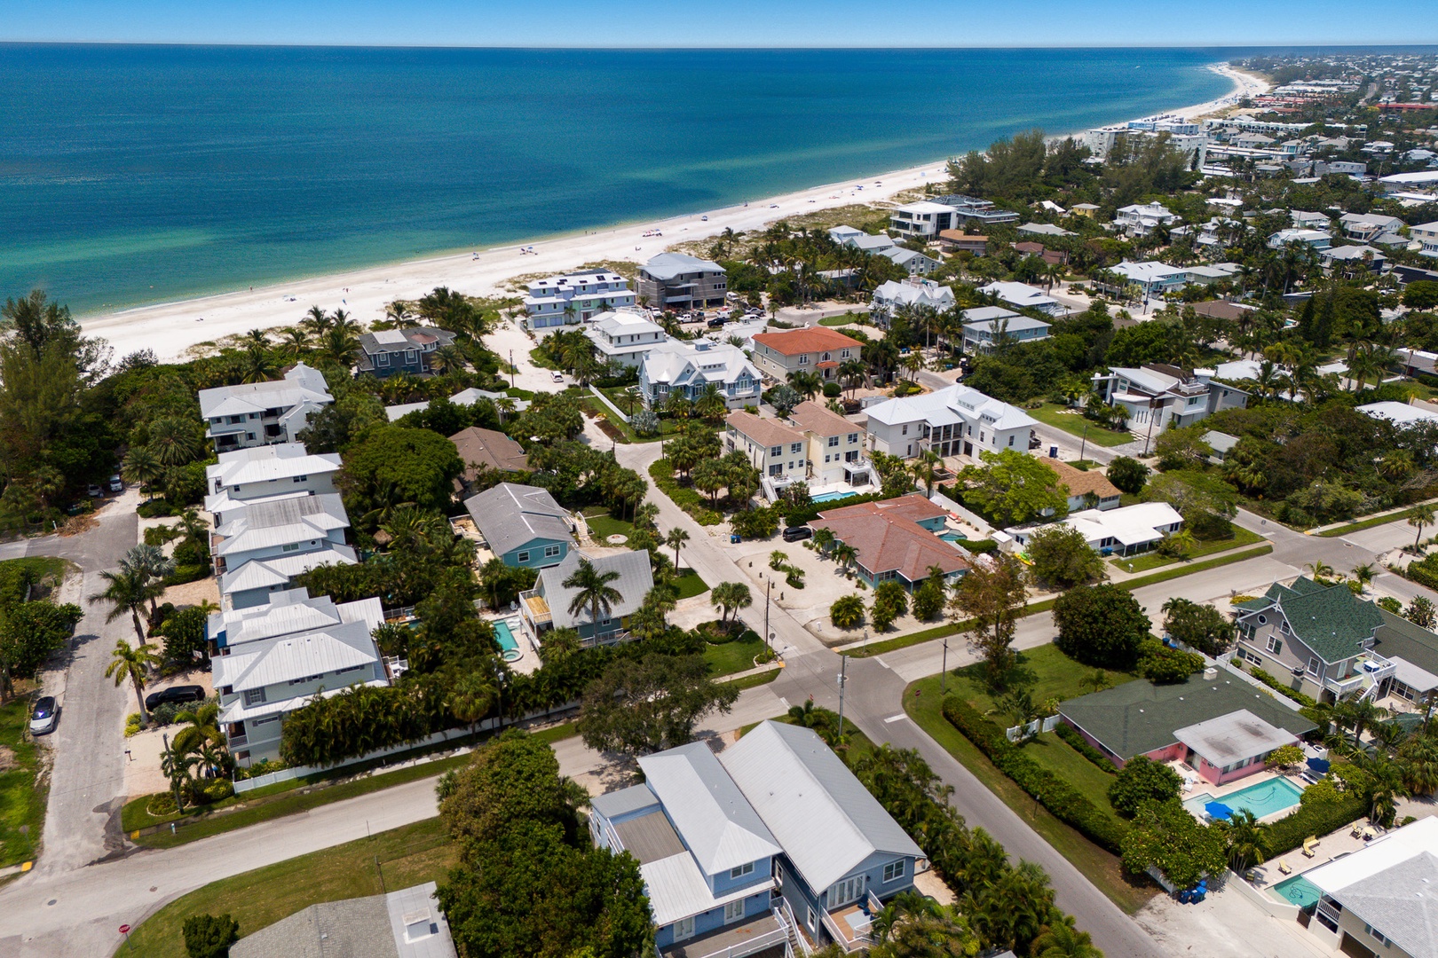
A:
POLYGON ((269 603, 210 615, 209 633, 220 727, 240 766, 279 758, 285 717, 319 695, 352 685, 388 685, 391 669, 372 633, 380 599, 335 605, 305 589, 269 603))

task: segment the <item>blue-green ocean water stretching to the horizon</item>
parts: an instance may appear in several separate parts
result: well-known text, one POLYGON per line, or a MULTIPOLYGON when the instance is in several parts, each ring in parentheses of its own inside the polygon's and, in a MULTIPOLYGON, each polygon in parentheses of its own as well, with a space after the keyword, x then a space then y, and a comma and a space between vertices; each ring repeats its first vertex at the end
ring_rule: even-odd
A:
POLYGON ((707 210, 1206 101, 1229 56, 0 45, 0 296, 95 312, 707 210))

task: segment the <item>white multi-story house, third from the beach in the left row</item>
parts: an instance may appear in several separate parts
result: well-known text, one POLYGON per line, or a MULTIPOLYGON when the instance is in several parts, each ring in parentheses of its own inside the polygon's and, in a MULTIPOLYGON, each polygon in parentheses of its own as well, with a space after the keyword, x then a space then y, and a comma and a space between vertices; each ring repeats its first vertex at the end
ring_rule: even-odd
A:
POLYGON ((263 605, 311 569, 354 564, 355 550, 345 544, 347 529, 345 506, 332 493, 229 508, 224 523, 210 536, 223 608, 263 605))

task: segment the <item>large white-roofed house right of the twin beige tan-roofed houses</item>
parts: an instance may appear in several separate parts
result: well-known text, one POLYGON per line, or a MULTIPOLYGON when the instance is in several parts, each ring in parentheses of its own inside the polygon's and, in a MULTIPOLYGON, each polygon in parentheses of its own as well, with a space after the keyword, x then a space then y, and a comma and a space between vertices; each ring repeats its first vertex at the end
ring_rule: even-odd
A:
POLYGON ((925 450, 971 458, 985 450, 1027 452, 1038 425, 1022 409, 961 383, 922 396, 889 399, 864 412, 870 451, 906 460, 925 450))

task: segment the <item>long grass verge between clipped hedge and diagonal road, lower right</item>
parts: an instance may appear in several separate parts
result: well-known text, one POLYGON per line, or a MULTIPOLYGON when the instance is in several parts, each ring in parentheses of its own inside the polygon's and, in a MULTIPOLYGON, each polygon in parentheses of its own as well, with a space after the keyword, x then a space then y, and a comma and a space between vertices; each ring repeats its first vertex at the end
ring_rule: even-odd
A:
MULTIPOLYGON (((1002 799, 1018 817, 1024 819, 1045 842, 1097 885, 1114 905, 1133 915, 1158 893, 1156 888, 1136 885, 1135 879, 1123 873, 1116 856, 1078 834, 1024 794, 1008 776, 984 757, 974 743, 951 725, 939 711, 943 702, 939 697, 938 675, 909 685, 903 701, 905 711, 920 728, 943 745, 951 755, 963 763, 989 791, 1002 799)), ((1083 760, 1081 755, 1078 758, 1083 760)))

